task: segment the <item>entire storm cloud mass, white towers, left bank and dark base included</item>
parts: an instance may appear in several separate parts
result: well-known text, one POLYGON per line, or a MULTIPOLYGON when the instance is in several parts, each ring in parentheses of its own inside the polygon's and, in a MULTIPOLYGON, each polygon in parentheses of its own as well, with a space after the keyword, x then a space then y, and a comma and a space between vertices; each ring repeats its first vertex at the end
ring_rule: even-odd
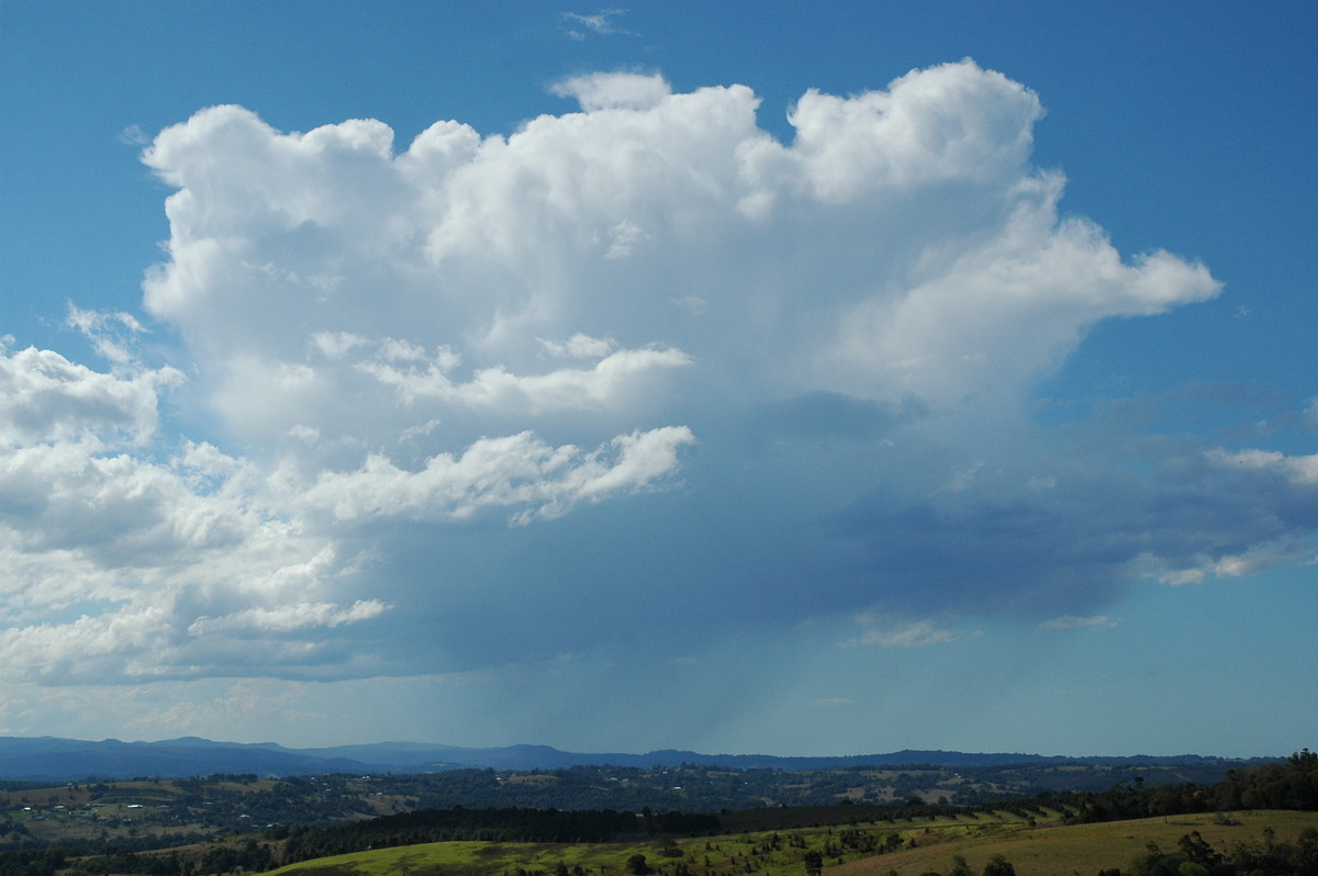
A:
MULTIPOLYGON (((1180 451, 1174 474, 1122 481, 1028 423, 1090 327, 1220 285, 1169 253, 1123 258, 1060 211, 1020 83, 966 61, 811 91, 789 142, 745 86, 614 72, 555 92, 580 111, 506 136, 438 121, 402 149, 382 121, 281 132, 233 105, 152 141, 142 161, 174 191, 144 308, 186 368, 142 365, 136 320, 83 311, 107 371, 0 349, 0 556, 20 570, 0 649, 46 655, 25 677, 385 672, 335 643, 480 580, 460 549, 377 577, 390 526, 494 520, 481 536, 526 552, 526 598, 564 640, 565 578, 733 610, 757 570, 804 569, 811 610, 837 616, 956 599, 1037 605, 1037 623, 1102 616, 1123 576, 1230 574, 1310 537, 1307 457, 1180 451), (215 433, 162 428, 166 389, 215 433), (1251 502, 1215 502, 1230 478, 1267 479, 1251 502, 1288 511, 1242 528, 1251 502), (668 505, 625 498, 660 487, 668 505), (588 541, 572 518, 604 502, 638 515, 605 559, 523 535, 588 541), (655 532, 676 535, 629 566, 655 532), (61 640, 96 660, 75 671, 61 640)), ((863 640, 956 635, 916 618, 863 640)))

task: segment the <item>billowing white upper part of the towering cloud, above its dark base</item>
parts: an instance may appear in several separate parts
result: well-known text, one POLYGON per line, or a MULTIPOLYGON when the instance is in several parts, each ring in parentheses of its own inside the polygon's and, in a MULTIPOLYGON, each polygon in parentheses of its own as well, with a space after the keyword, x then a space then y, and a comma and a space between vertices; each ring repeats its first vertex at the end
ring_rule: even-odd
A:
POLYGON ((239 107, 156 138, 144 161, 179 191, 146 307, 188 339, 229 428, 382 445, 414 424, 420 411, 301 362, 308 336, 397 398, 428 398, 424 416, 461 424, 464 444, 534 425, 510 404, 534 418, 626 398, 621 433, 692 361, 739 397, 1002 404, 1095 321, 1219 288, 1164 253, 1123 262, 1093 224, 1060 219, 1062 179, 1029 165, 1039 99, 971 62, 807 94, 789 145, 743 86, 673 94, 614 72, 556 91, 584 112, 506 138, 439 123, 401 153, 378 121, 281 133, 239 107), (542 339, 577 336, 617 349, 536 373, 542 339))

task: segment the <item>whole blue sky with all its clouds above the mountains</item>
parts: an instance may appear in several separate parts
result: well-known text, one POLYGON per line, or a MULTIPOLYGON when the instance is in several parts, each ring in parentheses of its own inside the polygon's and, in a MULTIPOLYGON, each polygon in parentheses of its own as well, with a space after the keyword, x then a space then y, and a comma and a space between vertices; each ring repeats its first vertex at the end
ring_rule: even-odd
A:
POLYGON ((1286 755, 1318 5, 0 4, 0 735, 1286 755))

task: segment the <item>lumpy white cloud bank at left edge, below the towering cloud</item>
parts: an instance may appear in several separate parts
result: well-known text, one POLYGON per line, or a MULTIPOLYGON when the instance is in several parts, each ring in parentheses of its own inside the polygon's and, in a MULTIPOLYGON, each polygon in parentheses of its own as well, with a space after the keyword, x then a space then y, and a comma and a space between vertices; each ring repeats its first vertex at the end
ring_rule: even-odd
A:
MULTIPOLYGON (((130 316, 78 308, 70 323, 141 331, 130 316)), ((158 390, 181 374, 127 349, 108 350, 107 374, 0 346, 3 674, 69 684, 339 663, 319 660, 312 638, 225 644, 240 619, 310 632, 369 620, 384 603, 307 601, 356 574, 352 559, 272 505, 279 497, 250 460, 208 443, 163 445, 158 390), (196 626, 207 616, 228 623, 196 626)))

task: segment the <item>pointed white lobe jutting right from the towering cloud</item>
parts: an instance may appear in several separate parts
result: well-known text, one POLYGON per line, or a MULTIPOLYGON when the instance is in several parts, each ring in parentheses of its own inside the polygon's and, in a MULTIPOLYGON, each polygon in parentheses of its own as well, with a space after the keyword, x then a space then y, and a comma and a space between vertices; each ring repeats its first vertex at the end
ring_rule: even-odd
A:
POLYGON ((896 299, 854 306, 820 370, 842 391, 1000 404, 1054 370, 1089 325, 1202 300, 1220 286, 1166 253, 1122 260, 1093 224, 1058 223, 1060 187, 1021 203, 1002 234, 937 265, 896 299), (1007 394, 1007 399, 1003 395, 1007 394))

